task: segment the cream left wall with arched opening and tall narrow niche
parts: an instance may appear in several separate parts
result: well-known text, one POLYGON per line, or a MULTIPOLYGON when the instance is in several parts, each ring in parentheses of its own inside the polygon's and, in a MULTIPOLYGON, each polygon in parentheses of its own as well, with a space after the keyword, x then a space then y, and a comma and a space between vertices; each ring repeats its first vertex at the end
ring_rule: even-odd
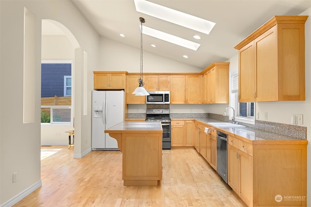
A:
MULTIPOLYGON (((86 143, 86 139, 90 139, 90 93, 93 88, 92 71, 98 68, 99 36, 69 0, 1 0, 0 19, 0 206, 12 206, 41 185, 41 19, 52 19, 63 24, 82 48, 80 54, 84 51, 88 54, 87 78, 84 79, 82 71, 75 71, 76 87, 79 88, 76 91, 79 99, 75 103, 78 109, 75 113, 80 114, 75 127, 80 127, 80 130, 74 153, 78 155, 90 148, 90 142, 86 143), (35 122, 28 124, 22 122, 24 7, 35 15, 35 122), (83 81, 87 82, 87 94, 81 90, 83 81), (82 105, 85 97, 87 106, 82 105), (87 108, 86 114, 83 114, 83 108, 87 108), (17 172, 17 182, 12 183, 14 172, 17 172)), ((83 61, 82 64, 79 61, 83 65, 83 61)), ((75 63, 79 66, 77 60, 75 63)))

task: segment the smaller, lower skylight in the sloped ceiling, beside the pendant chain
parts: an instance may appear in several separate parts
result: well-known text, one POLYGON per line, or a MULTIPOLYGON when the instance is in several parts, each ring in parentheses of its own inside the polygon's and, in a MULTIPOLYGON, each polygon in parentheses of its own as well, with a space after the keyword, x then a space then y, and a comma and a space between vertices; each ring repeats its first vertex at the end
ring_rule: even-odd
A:
MULTIPOLYGON (((140 25, 139 25, 140 27, 140 25)), ((195 43, 195 42, 191 42, 189 40, 174 36, 172 34, 168 34, 165 32, 161 32, 155 29, 152 29, 150 27, 145 27, 142 26, 142 33, 143 34, 147 34, 149 36, 173 43, 175 45, 179 45, 185 48, 189 48, 189 49, 193 49, 193 50, 197 50, 200 47, 200 44, 195 43)))

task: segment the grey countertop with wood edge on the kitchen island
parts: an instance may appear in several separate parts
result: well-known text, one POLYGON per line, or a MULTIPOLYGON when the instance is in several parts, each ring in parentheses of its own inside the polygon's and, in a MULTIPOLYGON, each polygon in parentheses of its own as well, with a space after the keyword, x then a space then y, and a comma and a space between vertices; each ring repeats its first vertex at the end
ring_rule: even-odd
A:
POLYGON ((105 133, 120 133, 124 131, 126 133, 162 132, 162 125, 160 122, 124 121, 104 130, 105 133))

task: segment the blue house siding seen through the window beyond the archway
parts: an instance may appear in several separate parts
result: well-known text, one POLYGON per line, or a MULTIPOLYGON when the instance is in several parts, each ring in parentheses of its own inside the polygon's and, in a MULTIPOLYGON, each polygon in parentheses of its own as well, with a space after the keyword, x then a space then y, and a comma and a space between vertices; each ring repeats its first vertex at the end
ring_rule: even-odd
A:
POLYGON ((64 76, 71 76, 71 64, 41 64, 41 97, 64 96, 64 76))

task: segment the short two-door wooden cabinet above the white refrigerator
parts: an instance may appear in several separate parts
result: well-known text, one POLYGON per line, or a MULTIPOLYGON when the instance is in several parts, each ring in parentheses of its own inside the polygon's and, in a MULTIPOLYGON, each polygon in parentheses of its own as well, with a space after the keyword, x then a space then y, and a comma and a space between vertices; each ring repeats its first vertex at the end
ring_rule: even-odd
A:
POLYGON ((125 89, 126 71, 93 71, 94 89, 125 89))

